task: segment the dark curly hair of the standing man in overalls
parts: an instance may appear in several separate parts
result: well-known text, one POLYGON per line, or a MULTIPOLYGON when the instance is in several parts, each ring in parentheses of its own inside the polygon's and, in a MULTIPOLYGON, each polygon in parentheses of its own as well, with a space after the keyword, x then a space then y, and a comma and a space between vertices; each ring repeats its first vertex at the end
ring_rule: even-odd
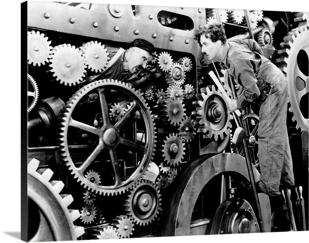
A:
POLYGON ((195 34, 195 40, 202 46, 200 37, 204 35, 206 38, 210 38, 212 42, 221 41, 222 45, 226 43, 226 35, 223 24, 213 22, 206 24, 203 28, 198 29, 195 34), (208 35, 208 36, 207 36, 208 35))

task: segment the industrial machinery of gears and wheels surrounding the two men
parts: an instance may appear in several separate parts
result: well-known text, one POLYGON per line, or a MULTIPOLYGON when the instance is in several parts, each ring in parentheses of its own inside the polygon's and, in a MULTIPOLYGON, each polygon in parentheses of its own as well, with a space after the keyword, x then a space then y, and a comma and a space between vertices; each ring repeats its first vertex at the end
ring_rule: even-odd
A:
MULTIPOLYGON (((289 231, 251 191, 243 145, 195 31, 212 20, 254 38, 289 83, 288 133, 297 230, 308 230, 308 13, 27 2, 28 237, 26 241, 289 231), (128 82, 84 81, 108 69, 107 46, 136 38, 155 57, 128 82), (299 191, 298 191, 299 192, 299 191), (300 193, 300 192, 299 192, 300 193), (262 218, 264 228, 260 227, 262 218), (30 223, 31 222, 31 223, 30 223), (36 222, 36 223, 33 223, 36 222)), ((238 94, 242 87, 236 84, 238 94)), ((242 111, 259 177, 257 107, 242 111)), ((249 159, 249 158, 247 158, 249 159)))

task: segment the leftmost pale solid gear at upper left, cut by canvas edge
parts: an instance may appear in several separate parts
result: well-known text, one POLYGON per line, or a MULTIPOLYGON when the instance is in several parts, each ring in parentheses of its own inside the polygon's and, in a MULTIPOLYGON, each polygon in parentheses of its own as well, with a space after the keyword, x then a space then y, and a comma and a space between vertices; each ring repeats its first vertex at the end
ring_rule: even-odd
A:
POLYGON ((51 41, 48 41, 48 37, 39 31, 28 31, 27 43, 29 64, 40 67, 41 64, 45 65, 45 62, 49 62, 53 47, 50 46, 51 41))

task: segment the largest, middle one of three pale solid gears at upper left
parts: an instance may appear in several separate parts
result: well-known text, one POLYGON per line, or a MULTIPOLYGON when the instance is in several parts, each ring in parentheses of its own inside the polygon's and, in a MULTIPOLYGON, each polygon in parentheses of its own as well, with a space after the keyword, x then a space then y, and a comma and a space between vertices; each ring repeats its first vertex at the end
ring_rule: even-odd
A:
POLYGON ((52 58, 49 60, 51 64, 53 77, 61 84, 71 86, 79 84, 83 80, 86 73, 86 65, 84 57, 75 46, 70 44, 56 46, 53 49, 52 58))

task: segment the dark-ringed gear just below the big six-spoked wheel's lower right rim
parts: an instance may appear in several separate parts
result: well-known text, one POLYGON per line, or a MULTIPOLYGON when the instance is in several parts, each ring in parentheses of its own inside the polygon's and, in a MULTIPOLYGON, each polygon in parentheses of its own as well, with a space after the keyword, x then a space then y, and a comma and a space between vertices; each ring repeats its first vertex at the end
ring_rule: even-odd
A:
POLYGON ((148 225, 155 220, 161 208, 159 188, 151 181, 140 180, 125 200, 126 215, 134 223, 148 225))

